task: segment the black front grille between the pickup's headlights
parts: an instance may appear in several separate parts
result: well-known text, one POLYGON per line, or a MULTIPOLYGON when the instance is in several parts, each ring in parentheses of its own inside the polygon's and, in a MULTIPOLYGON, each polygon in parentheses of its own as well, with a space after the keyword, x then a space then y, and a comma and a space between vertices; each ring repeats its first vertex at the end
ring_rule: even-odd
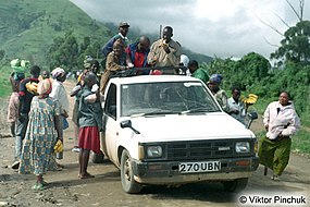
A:
POLYGON ((166 158, 168 160, 202 160, 236 157, 234 149, 235 142, 235 139, 213 139, 168 143, 166 158))

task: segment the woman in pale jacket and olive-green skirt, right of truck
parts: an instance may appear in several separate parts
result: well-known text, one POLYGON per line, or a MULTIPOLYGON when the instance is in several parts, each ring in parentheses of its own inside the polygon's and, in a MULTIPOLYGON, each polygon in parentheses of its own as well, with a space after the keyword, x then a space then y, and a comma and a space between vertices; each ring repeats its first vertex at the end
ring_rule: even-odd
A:
POLYGON ((271 102, 263 114, 266 134, 259 141, 260 163, 273 170, 273 180, 278 180, 286 168, 292 145, 292 135, 300 127, 290 96, 282 92, 278 101, 271 102))

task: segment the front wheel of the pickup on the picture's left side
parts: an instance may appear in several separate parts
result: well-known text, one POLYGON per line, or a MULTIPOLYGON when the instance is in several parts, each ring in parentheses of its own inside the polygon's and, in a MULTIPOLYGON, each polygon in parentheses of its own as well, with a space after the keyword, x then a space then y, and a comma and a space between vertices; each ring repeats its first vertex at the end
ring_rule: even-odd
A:
POLYGON ((134 180, 133 168, 131 165, 131 156, 126 149, 122 153, 121 158, 121 181, 123 190, 126 193, 135 194, 142 190, 142 185, 134 180))

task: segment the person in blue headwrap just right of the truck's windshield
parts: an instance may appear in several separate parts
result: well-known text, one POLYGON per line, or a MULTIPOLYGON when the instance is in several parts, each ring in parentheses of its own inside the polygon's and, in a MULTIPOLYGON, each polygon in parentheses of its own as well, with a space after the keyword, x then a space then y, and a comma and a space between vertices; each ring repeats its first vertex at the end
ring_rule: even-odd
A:
POLYGON ((216 101, 225 112, 228 112, 226 92, 220 88, 223 76, 221 74, 212 74, 207 83, 207 86, 212 92, 216 101))

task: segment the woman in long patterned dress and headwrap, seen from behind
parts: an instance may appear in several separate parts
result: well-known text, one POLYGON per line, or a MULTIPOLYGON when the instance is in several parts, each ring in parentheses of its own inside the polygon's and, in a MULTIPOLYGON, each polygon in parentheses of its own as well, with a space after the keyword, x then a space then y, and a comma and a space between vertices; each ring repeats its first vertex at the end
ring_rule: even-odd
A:
POLYGON ((58 139, 63 139, 60 125, 60 107, 58 101, 49 97, 52 84, 49 78, 38 84, 37 93, 32 101, 29 122, 24 139, 20 173, 34 173, 37 182, 33 190, 45 188, 42 174, 54 165, 53 147, 58 139))

